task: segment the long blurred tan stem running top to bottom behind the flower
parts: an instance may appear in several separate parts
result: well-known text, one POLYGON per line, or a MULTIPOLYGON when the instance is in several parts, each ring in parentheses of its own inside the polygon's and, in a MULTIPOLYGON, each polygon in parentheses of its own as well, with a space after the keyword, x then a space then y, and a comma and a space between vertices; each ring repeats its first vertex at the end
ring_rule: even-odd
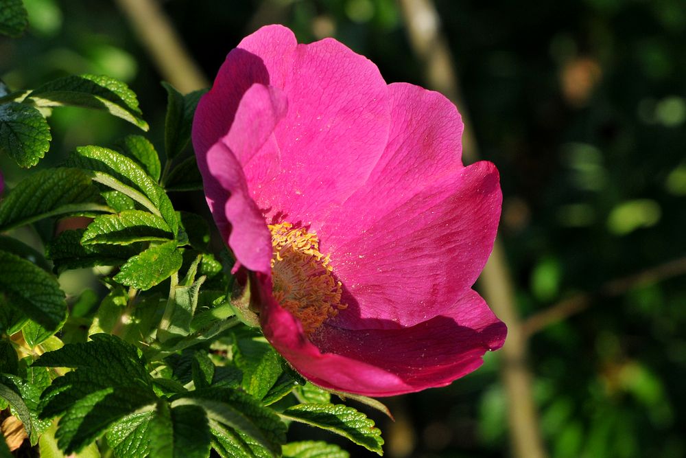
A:
MULTIPOLYGON (((465 159, 475 161, 479 156, 477 142, 466 115, 466 105, 460 97, 457 72, 452 65, 450 51, 440 33, 436 8, 431 0, 399 0, 399 3, 410 34, 410 44, 426 65, 429 86, 447 95, 460 107, 464 120, 463 155, 465 159)), ((500 356, 503 362, 501 377, 508 398, 512 455, 517 458, 545 458, 531 389, 532 375, 527 361, 526 335, 521 330, 519 312, 514 302, 512 276, 499 240, 495 241, 480 284, 488 304, 508 325, 508 337, 500 350, 500 356)))

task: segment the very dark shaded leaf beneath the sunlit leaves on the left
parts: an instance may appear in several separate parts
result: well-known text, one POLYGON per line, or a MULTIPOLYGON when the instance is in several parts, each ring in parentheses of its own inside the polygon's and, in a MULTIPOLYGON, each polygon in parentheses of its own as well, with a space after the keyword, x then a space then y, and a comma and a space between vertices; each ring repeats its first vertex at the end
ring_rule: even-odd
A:
POLYGON ((143 244, 82 245, 83 233, 84 229, 64 231, 47 245, 46 255, 58 271, 65 268, 119 266, 143 249, 143 244))

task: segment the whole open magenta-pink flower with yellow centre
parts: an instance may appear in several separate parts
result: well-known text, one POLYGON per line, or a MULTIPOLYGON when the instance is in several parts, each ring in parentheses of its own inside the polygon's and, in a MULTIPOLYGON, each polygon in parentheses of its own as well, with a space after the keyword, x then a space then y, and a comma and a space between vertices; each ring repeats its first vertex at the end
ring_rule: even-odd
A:
POLYGON ((200 101, 193 146, 217 227, 256 273, 264 335, 317 385, 445 386, 503 344, 471 289, 499 175, 462 165, 461 136, 439 93, 279 25, 244 38, 200 101))

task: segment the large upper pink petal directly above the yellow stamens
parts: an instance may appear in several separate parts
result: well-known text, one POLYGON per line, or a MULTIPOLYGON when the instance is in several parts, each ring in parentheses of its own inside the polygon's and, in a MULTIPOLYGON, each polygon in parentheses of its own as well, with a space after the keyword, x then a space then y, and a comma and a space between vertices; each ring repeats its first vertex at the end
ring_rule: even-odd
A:
POLYGON ((298 45, 283 85, 288 113, 273 141, 243 163, 270 218, 316 224, 360 187, 388 140, 388 87, 370 60, 331 39, 298 45), (278 167, 274 166, 278 161, 278 167), (269 176, 265 167, 280 170, 269 176))

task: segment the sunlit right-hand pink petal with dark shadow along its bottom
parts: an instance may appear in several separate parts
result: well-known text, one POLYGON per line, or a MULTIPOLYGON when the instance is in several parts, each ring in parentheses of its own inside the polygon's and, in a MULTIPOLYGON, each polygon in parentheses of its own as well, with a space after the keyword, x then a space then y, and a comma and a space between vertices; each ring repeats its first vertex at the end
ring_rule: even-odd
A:
POLYGON ((371 199, 358 209, 364 233, 335 250, 324 246, 325 228, 320 233, 344 286, 340 328, 400 328, 436 317, 469 290, 493 249, 502 196, 492 163, 431 181, 391 209, 379 194, 376 206, 371 199), (366 225, 371 210, 378 214, 366 225))

